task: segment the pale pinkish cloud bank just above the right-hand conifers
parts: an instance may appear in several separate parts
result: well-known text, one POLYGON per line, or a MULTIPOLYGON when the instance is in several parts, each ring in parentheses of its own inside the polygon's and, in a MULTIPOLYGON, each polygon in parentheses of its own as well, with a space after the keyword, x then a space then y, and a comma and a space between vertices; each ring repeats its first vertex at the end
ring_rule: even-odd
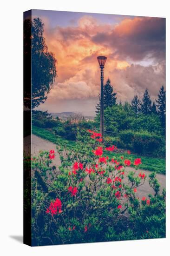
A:
POLYGON ((155 99, 160 87, 165 86, 165 64, 149 67, 131 64, 122 70, 112 70, 110 78, 118 100, 130 102, 134 94, 142 97, 146 88, 155 99))

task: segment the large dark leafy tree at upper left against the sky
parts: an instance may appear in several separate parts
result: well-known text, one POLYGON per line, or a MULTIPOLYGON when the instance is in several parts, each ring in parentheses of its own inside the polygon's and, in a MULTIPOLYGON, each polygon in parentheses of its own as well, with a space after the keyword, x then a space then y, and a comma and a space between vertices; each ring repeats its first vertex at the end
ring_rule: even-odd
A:
POLYGON ((32 108, 39 106, 46 101, 46 94, 53 86, 56 71, 56 59, 52 52, 48 52, 48 47, 43 37, 44 24, 39 18, 24 21, 24 54, 26 55, 31 47, 31 100, 32 108), (31 43, 30 41, 31 31, 31 43))

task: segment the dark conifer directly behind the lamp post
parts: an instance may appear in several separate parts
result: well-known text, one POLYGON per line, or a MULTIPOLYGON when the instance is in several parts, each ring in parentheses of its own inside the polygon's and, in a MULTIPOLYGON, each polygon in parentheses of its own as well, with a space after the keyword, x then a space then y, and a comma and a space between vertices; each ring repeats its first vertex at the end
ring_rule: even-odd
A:
MULTIPOLYGON (((116 104, 116 94, 113 93, 113 87, 111 86, 111 81, 108 79, 104 86, 104 109, 112 107, 116 104)), ((99 103, 96 105, 96 113, 100 112, 100 94, 98 95, 99 103)))

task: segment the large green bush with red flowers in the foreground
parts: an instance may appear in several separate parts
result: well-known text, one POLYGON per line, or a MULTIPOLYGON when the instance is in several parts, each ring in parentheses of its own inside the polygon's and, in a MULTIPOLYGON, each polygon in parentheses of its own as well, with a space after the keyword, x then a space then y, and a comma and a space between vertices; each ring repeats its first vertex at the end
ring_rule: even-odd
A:
POLYGON ((137 197, 146 175, 126 167, 137 169, 142 160, 111 158, 114 150, 99 133, 82 130, 76 147, 63 144, 32 159, 33 245, 165 236, 165 192, 155 173, 154 195, 137 197), (52 164, 56 154, 59 167, 52 164))

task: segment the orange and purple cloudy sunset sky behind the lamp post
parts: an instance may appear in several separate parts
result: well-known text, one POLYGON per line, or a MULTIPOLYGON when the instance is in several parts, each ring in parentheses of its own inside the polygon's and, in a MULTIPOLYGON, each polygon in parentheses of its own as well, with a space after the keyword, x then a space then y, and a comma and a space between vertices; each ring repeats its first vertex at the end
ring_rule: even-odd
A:
POLYGON ((57 77, 38 109, 95 115, 100 93, 97 56, 105 55, 117 101, 131 102, 148 88, 155 100, 165 87, 165 19, 115 14, 33 10, 44 23, 48 51, 57 59, 57 77))

